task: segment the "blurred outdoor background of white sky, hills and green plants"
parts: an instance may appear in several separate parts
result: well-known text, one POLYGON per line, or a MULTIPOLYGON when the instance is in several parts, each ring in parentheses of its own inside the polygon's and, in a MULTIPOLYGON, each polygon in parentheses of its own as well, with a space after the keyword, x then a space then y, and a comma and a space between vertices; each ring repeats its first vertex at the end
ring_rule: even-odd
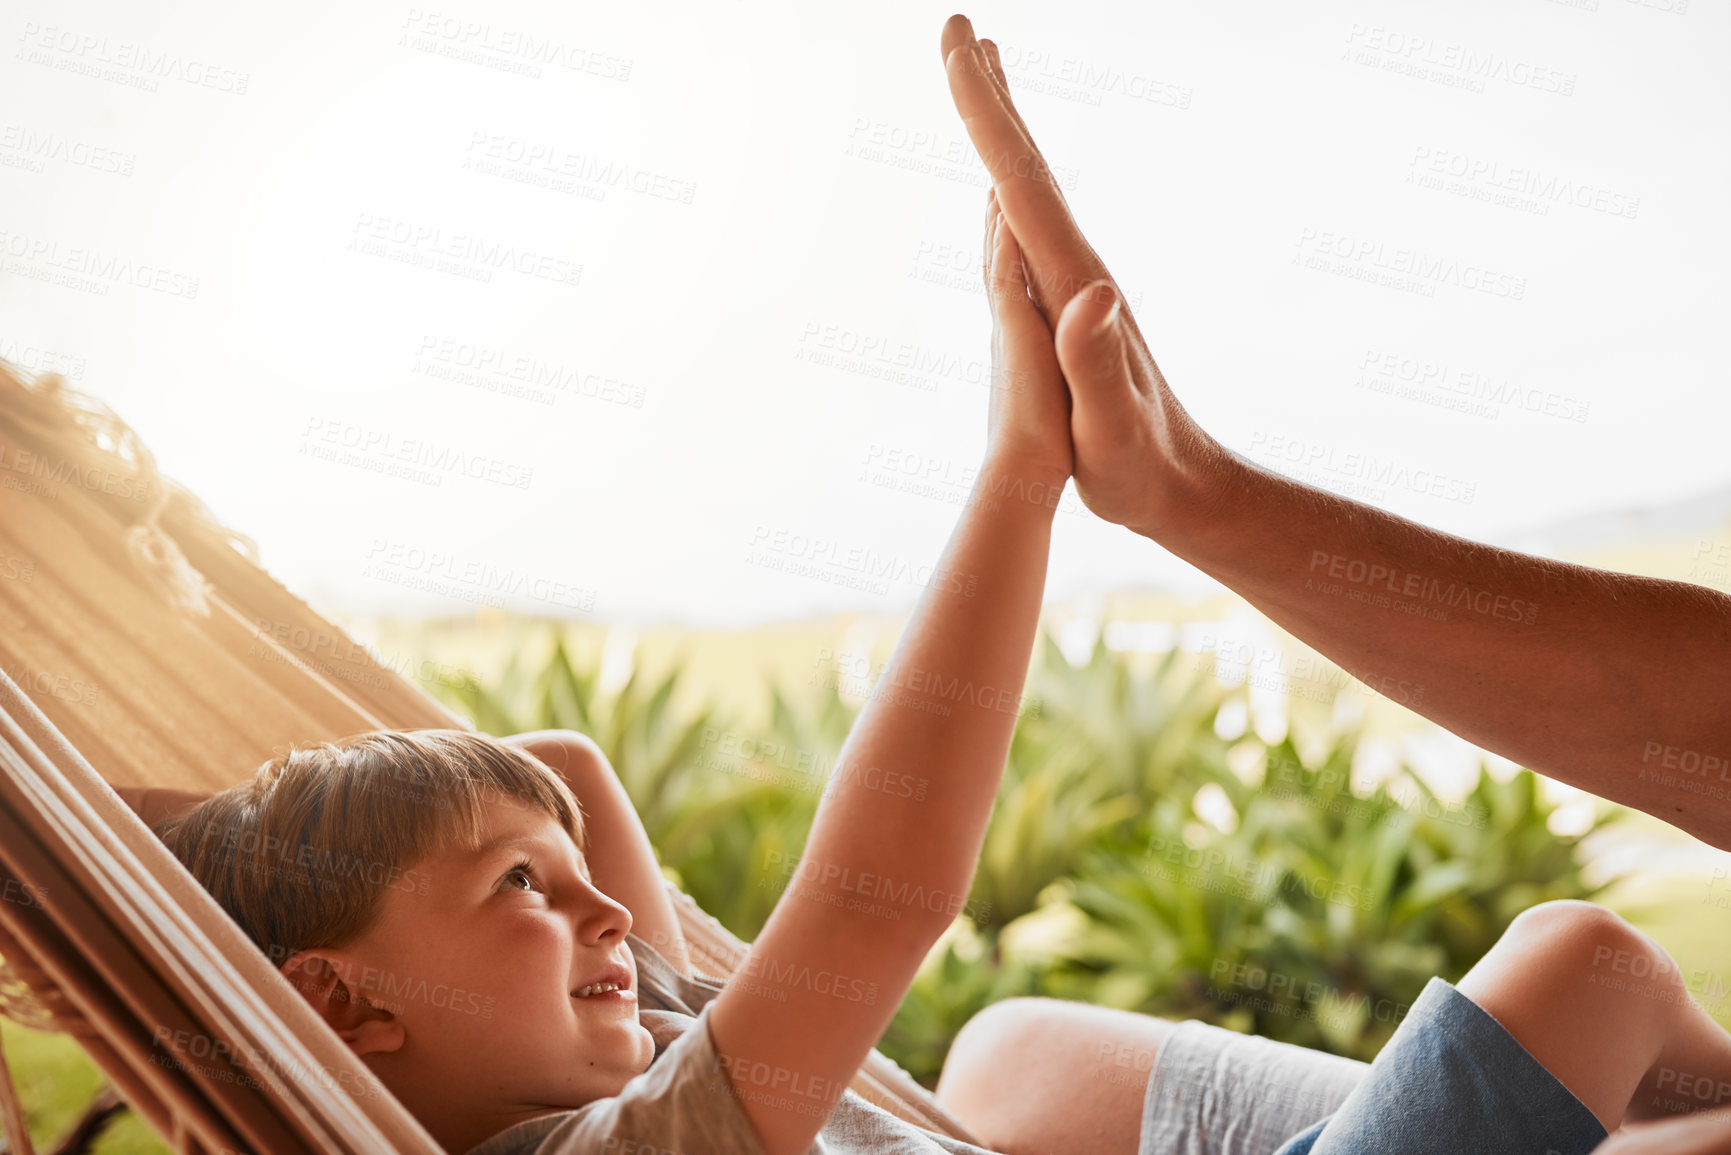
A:
MULTIPOLYGON (((483 729, 592 734, 751 937, 983 448, 952 10, 0 3, 0 357, 483 729)), ((1226 445, 1731 589, 1724 5, 968 14, 1226 445)), ((916 1077, 1030 992, 1369 1058, 1549 897, 1731 1023, 1728 855, 1366 691, 1073 490, 1056 521, 973 902, 883 1044, 916 1077)), ((99 1077, 3 1029, 48 1141, 99 1077)))

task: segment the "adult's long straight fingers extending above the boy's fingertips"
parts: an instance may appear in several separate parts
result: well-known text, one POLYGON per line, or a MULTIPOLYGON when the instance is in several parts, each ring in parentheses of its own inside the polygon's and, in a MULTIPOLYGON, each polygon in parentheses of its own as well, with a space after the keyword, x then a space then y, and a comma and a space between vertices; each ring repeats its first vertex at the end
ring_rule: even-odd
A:
POLYGON ((1070 216, 1046 158, 1016 119, 985 50, 971 38, 952 35, 957 23, 966 26, 966 17, 950 17, 943 28, 950 97, 992 175, 999 206, 1028 255, 1033 291, 1056 319, 1082 284, 1110 274, 1070 216))

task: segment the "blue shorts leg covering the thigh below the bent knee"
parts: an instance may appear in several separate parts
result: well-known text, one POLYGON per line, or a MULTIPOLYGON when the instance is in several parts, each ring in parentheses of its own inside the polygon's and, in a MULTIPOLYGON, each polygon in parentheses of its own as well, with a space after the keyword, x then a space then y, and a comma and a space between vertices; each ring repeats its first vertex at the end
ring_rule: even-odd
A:
POLYGON ((1584 1155, 1605 1141, 1587 1105, 1442 978, 1333 1117, 1276 1155, 1584 1155))

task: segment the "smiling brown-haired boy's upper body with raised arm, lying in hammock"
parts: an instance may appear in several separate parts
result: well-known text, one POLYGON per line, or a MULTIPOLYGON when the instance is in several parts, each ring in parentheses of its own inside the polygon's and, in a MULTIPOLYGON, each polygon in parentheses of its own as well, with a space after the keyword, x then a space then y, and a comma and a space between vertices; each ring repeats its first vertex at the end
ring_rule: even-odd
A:
MULTIPOLYGON (((1026 677, 1068 400, 990 197, 985 237, 985 461, 888 684, 1026 677)), ((966 900, 1014 717, 928 689, 872 698, 741 966, 751 982, 724 989, 684 966, 646 845, 594 873, 609 838, 640 836, 635 819, 609 824, 585 795, 583 823, 509 743, 369 734, 299 750, 159 833, 447 1150, 492 1136, 488 1153, 793 1155, 822 1131, 838 1152, 976 1152, 845 1087, 966 900), (930 790, 885 790, 886 772, 930 790), (628 942, 634 926, 675 944, 672 961, 628 942)))

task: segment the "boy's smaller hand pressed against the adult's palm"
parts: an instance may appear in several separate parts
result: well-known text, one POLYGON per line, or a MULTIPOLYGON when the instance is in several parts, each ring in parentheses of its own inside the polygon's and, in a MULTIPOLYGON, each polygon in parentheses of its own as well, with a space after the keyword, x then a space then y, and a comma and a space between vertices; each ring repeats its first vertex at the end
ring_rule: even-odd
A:
POLYGON ((1070 391, 1058 367, 1052 329, 1028 296, 1016 234, 985 197, 985 294, 992 306, 992 402, 987 459, 1061 485, 1075 469, 1070 450, 1070 391))

